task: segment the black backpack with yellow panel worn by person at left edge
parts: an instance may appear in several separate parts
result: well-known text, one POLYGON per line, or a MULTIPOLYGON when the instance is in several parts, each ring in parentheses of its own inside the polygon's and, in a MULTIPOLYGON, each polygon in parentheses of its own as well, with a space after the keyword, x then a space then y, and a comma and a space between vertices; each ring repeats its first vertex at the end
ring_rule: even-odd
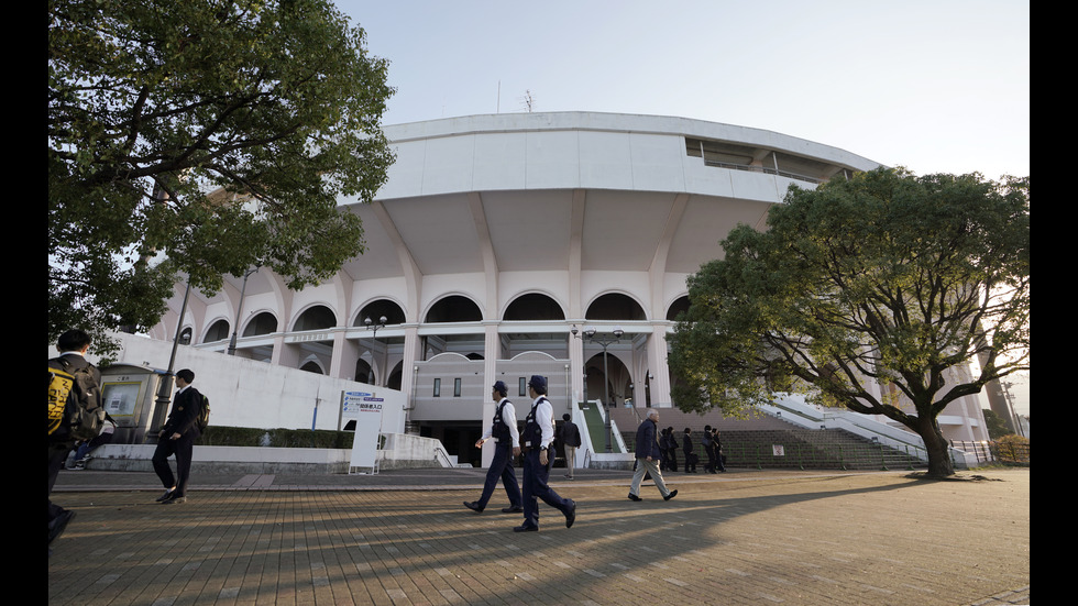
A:
POLYGON ((48 361, 48 437, 91 440, 105 425, 105 406, 90 365, 73 368, 63 356, 48 361))

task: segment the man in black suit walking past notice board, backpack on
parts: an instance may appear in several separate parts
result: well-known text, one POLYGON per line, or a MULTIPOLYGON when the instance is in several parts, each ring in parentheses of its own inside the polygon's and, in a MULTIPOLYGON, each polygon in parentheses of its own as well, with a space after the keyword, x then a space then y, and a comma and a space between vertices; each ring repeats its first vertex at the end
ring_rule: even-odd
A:
POLYGON ((173 505, 187 503, 187 478, 191 474, 191 455, 195 452, 195 440, 201 436, 198 430, 198 414, 202 408, 202 395, 191 387, 195 373, 184 368, 176 373, 176 396, 168 419, 161 428, 157 437, 157 449, 154 451, 153 465, 165 487, 165 494, 157 497, 157 503, 173 505), (176 455, 176 475, 168 466, 168 458, 176 455))

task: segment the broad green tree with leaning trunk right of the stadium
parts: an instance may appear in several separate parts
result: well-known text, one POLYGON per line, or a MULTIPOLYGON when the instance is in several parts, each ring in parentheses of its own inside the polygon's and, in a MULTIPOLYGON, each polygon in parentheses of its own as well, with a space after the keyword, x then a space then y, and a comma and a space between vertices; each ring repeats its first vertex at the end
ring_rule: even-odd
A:
POLYGON ((784 394, 883 415, 954 474, 937 417, 1030 368, 1028 178, 879 168, 791 186, 768 229, 723 241, 671 337, 682 410, 784 394))

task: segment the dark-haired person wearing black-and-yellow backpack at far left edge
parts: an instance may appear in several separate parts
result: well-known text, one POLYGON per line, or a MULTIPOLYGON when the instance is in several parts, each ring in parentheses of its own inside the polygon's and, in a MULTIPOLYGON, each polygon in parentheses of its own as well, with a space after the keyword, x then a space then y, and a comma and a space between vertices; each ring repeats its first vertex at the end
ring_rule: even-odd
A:
MULTIPOLYGON (((86 360, 90 335, 75 329, 59 335, 61 355, 48 361, 48 496, 77 440, 97 436, 105 420, 101 372, 86 360)), ((48 543, 64 532, 75 511, 48 499, 48 543)), ((50 548, 52 553, 52 548, 50 548)))

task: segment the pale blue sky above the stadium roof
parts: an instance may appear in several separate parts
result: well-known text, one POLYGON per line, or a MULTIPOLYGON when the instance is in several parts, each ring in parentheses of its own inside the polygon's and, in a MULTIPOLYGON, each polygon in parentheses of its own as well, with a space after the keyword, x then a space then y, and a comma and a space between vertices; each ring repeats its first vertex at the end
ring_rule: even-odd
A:
POLYGON ((1030 3, 337 0, 389 64, 383 123, 678 115, 915 173, 1030 173, 1030 3), (501 99, 498 85, 501 82, 501 99))

